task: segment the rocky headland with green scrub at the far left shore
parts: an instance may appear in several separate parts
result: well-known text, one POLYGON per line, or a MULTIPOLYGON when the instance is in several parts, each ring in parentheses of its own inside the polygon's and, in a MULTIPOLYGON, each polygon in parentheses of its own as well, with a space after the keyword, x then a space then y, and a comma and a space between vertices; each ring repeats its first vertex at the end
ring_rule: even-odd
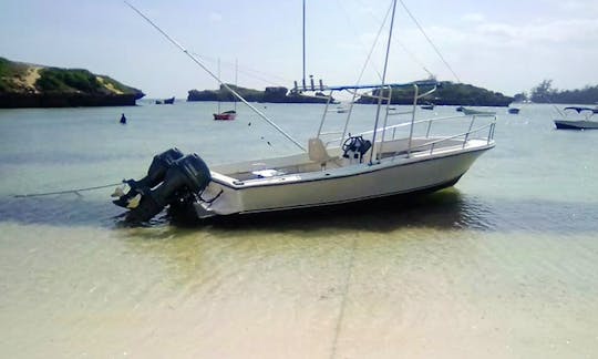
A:
POLYGON ((134 105, 144 93, 82 69, 59 69, 0 58, 0 107, 134 105))

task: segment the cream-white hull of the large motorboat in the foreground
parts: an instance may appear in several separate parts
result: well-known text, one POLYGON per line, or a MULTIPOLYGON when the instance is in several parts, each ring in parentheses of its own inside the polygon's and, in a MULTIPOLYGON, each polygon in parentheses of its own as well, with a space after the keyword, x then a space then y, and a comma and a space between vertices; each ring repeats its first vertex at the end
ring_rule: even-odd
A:
MULTIPOLYGON (((458 181, 493 146, 494 142, 474 140, 465 147, 461 144, 433 154, 425 151, 410 157, 384 158, 372 165, 351 164, 243 182, 213 171, 213 182, 203 198, 216 199, 196 203, 195 209, 199 217, 209 217, 333 205, 437 188, 458 181)), ((239 164, 243 165, 246 164, 239 164)))

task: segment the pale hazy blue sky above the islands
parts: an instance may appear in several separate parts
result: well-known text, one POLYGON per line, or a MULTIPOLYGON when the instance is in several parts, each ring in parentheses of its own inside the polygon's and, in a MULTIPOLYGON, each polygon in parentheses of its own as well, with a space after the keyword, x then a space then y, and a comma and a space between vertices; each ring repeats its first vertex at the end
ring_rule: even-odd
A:
MULTIPOLYGON (((225 82, 291 88, 302 78, 301 0, 130 1, 225 82)), ((598 84, 596 0, 402 3, 388 82, 433 74, 507 95, 545 79, 560 90, 598 84)), ((307 74, 328 85, 358 83, 372 51, 360 83, 380 82, 390 8, 390 0, 307 0, 307 74)), ((218 88, 121 0, 1 0, 0 57, 87 69, 152 99, 218 88)))

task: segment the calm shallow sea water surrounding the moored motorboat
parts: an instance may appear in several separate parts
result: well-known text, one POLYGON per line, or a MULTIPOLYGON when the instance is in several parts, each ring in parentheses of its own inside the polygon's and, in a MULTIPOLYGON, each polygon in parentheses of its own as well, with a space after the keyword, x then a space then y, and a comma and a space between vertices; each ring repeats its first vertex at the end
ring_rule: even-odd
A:
MULTIPOLYGON (((301 143, 323 109, 256 105, 301 143)), ((556 131, 550 105, 495 109, 454 188, 383 207, 127 226, 114 186, 16 197, 140 178, 175 146, 296 151, 215 111, 0 110, 2 358, 598 357, 598 131, 556 131)))

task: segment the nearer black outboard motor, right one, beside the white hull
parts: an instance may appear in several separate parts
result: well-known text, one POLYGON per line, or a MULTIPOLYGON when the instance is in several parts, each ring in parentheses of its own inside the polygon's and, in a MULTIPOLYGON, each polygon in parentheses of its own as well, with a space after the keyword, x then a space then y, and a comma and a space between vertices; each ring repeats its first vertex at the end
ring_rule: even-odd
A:
POLYGON ((140 205, 131 209, 126 219, 148 220, 187 192, 202 193, 210 181, 206 163, 196 154, 186 155, 168 167, 164 181, 157 187, 143 193, 140 205))

